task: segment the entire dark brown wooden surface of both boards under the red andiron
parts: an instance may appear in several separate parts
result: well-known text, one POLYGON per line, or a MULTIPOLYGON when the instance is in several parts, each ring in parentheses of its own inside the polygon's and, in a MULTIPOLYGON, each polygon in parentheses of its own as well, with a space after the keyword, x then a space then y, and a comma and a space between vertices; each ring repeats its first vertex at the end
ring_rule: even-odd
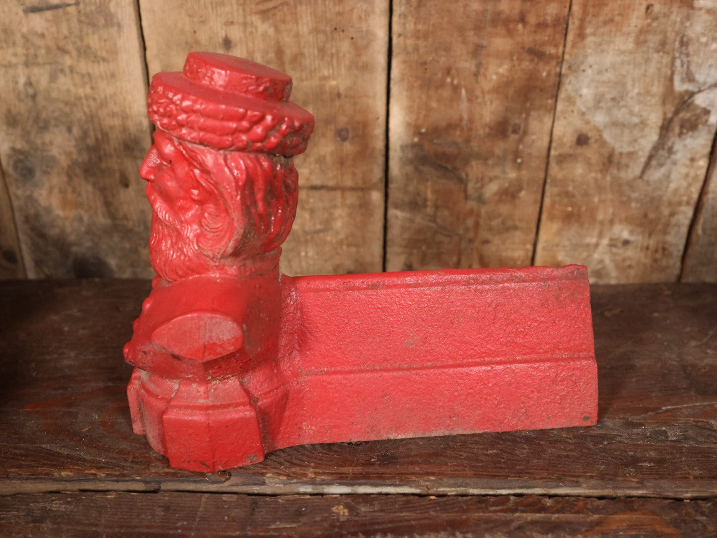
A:
POLYGON ((717 286, 593 288, 592 428, 296 446, 214 474, 133 435, 145 281, 0 283, 0 534, 717 535, 717 286))

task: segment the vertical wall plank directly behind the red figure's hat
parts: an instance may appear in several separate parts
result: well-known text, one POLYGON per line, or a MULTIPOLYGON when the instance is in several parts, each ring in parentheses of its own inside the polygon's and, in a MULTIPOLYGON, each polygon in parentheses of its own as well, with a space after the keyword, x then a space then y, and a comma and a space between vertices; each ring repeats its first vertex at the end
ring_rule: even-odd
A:
POLYGON ((380 271, 384 214, 388 2, 141 0, 151 74, 187 52, 246 57, 291 75, 292 100, 316 128, 295 158, 297 218, 289 274, 380 271))

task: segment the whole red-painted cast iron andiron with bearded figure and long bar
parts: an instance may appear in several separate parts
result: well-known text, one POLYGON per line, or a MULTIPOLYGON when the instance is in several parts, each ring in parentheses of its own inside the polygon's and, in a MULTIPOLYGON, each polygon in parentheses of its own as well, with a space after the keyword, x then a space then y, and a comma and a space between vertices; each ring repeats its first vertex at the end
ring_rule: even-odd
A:
POLYGON ((134 431, 171 466, 216 471, 303 443, 594 424, 583 266, 279 272, 314 125, 291 87, 204 52, 152 79, 134 431))

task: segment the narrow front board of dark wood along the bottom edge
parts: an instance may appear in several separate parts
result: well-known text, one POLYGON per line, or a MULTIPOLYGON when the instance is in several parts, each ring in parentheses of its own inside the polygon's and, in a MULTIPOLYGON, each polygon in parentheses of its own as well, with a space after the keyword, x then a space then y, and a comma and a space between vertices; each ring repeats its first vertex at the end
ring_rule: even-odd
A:
POLYGON ((0 498, 6 537, 711 537, 717 500, 75 493, 0 498), (96 514, 88 517, 88 514, 96 514))

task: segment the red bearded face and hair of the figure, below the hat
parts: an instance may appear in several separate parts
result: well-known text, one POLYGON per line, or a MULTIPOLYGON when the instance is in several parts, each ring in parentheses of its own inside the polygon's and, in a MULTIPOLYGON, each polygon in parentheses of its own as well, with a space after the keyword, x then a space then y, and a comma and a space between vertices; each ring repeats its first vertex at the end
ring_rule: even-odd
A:
MULTIPOLYGON (((189 162, 149 181, 150 258, 170 282, 196 274, 227 274, 240 259, 275 251, 296 211, 297 173, 276 155, 220 153, 162 135, 189 162), (186 170, 192 170, 189 174, 186 170), (181 185, 181 189, 177 186, 181 185)), ((181 158, 179 155, 176 158, 181 158)), ((164 163, 174 168, 171 160, 164 163)))

